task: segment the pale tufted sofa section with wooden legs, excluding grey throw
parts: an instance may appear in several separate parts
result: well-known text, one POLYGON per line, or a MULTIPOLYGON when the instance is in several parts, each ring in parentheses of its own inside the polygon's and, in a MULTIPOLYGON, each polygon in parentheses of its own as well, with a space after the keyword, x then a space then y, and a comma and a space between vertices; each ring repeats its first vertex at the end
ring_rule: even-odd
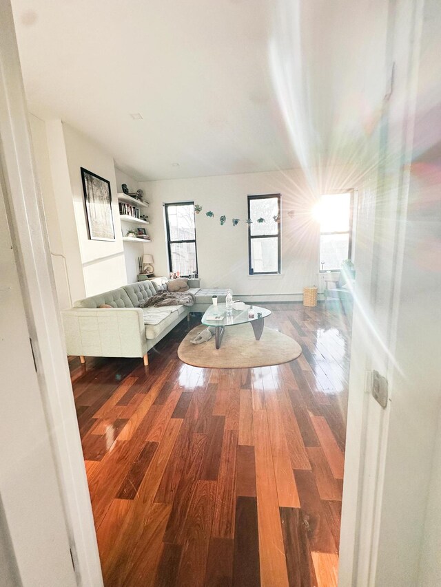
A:
MULTIPOLYGON (((85 356, 139 356, 148 365, 147 351, 181 320, 188 306, 140 308, 156 293, 158 284, 141 281, 87 297, 61 312, 68 354, 85 356), (111 308, 100 308, 103 304, 111 308)), ((190 289, 192 293, 198 288, 190 289)))

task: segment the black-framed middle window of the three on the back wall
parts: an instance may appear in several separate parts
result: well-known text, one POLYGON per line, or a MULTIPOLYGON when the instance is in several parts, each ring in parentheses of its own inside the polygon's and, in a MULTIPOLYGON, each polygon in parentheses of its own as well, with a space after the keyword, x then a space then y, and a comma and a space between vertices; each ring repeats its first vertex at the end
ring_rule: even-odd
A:
POLYGON ((248 217, 249 275, 280 273, 280 194, 249 195, 248 217))

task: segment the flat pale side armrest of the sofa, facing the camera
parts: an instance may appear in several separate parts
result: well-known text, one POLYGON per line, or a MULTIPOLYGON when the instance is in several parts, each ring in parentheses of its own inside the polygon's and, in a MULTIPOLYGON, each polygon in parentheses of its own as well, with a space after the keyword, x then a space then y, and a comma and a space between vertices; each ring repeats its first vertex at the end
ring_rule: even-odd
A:
POLYGON ((68 354, 144 356, 147 352, 141 308, 71 308, 61 318, 68 354))

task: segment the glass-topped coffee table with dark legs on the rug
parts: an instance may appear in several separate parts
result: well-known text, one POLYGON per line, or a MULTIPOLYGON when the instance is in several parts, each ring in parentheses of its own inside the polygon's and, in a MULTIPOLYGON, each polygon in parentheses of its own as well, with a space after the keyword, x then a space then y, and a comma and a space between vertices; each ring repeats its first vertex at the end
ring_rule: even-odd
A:
POLYGON ((263 332, 264 320, 271 310, 267 308, 260 308, 259 306, 253 306, 254 318, 248 317, 248 310, 251 306, 245 304, 243 310, 233 310, 232 316, 227 316, 227 308, 225 303, 218 303, 217 306, 210 306, 202 317, 202 323, 205 326, 214 326, 216 328, 216 349, 220 348, 222 343, 223 333, 227 326, 235 326, 237 324, 245 324, 249 322, 254 330, 254 336, 256 341, 260 340, 263 332))

